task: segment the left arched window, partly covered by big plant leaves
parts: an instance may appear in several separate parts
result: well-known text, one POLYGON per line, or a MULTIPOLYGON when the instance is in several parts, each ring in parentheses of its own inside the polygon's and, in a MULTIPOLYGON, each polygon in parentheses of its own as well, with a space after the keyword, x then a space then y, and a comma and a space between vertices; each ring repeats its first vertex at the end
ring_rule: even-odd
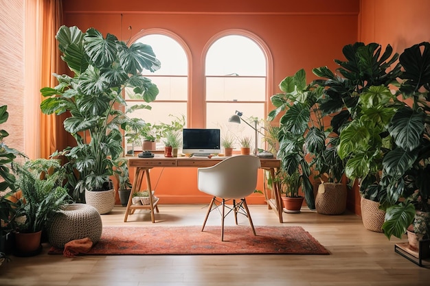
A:
MULTIPOLYGON (((151 110, 137 110, 130 117, 141 118, 151 124, 170 123, 174 117, 187 118, 188 100, 188 57, 183 43, 179 43, 165 31, 145 31, 138 36, 135 43, 150 45, 161 62, 161 68, 154 73, 144 70, 143 75, 157 84, 159 95, 150 104, 126 97, 128 106, 147 104, 151 110)), ((132 39, 133 40, 133 39, 132 39)), ((159 146, 163 145, 159 142, 159 146)))

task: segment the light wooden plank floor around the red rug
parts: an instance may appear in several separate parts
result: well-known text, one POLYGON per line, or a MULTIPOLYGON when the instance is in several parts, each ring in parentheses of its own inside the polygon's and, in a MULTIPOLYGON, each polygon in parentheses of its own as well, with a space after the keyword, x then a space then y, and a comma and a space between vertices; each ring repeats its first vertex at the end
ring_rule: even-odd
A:
MULTIPOLYGON (((361 218, 350 213, 319 215, 313 211, 284 213, 280 224, 273 210, 251 205, 256 226, 302 226, 330 255, 196 255, 196 256, 82 256, 43 254, 12 257, 0 266, 0 285, 121 285, 121 286, 429 286, 430 270, 394 252, 394 243, 381 233, 365 230, 361 218)), ((159 205, 156 223, 148 211, 136 211, 124 223, 124 210, 102 215, 104 226, 201 225, 206 206, 159 205)), ((233 217, 226 224, 233 224, 233 217)), ((219 225, 212 213, 207 224, 219 225)), ((247 224, 244 218, 239 224, 247 224)), ((228 233, 226 233, 228 236, 228 233)), ((150 241, 148 241, 150 243, 150 241)), ((172 246, 174 247, 174 246, 172 246)))

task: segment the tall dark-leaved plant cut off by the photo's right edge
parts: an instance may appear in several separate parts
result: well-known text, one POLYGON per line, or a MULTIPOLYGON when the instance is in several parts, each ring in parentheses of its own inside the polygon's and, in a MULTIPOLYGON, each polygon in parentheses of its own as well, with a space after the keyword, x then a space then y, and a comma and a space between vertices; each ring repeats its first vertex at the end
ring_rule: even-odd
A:
POLYGON ((429 239, 430 43, 405 49, 399 62, 403 68, 399 93, 411 102, 404 102, 396 110, 388 126, 396 148, 383 159, 381 181, 387 190, 383 230, 388 238, 401 238, 413 224, 420 239, 429 239))

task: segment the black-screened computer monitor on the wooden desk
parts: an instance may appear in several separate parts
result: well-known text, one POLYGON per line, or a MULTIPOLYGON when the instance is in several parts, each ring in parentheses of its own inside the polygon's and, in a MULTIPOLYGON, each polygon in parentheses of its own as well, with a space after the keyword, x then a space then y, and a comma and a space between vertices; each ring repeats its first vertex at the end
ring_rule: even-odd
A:
POLYGON ((182 152, 196 156, 220 153, 220 130, 183 128, 182 152))

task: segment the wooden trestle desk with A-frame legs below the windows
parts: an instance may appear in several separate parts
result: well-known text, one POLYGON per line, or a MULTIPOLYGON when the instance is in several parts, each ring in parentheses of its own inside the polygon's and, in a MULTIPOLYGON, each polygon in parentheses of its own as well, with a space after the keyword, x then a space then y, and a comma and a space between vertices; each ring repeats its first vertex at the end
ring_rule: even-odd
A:
MULTIPOLYGON (((128 203, 126 207, 126 213, 124 216, 124 222, 127 222, 128 215, 131 215, 135 212, 136 209, 149 209, 151 213, 151 220, 155 222, 154 217, 154 208, 158 213, 158 201, 153 202, 152 196, 150 195, 150 204, 148 205, 138 205, 132 203, 133 193, 139 191, 142 186, 142 180, 145 176, 146 185, 148 190, 152 190, 149 170, 154 167, 211 167, 216 165, 220 161, 229 157, 198 157, 193 156, 191 158, 188 157, 177 157, 177 158, 167 158, 161 154, 155 154, 154 158, 139 158, 139 157, 128 157, 128 167, 135 167, 135 180, 133 182, 133 187, 131 189, 130 198, 128 198, 128 203)), ((276 158, 260 158, 261 169, 268 170, 272 178, 275 177, 275 170, 280 167, 281 161, 276 158)), ((267 202, 267 206, 273 208, 273 210, 277 213, 279 217, 279 221, 283 222, 282 219, 282 201, 281 194, 278 184, 272 184, 272 193, 271 198, 267 195, 266 184, 264 183, 264 198, 267 202), (274 197, 274 198, 273 198, 274 197)))

